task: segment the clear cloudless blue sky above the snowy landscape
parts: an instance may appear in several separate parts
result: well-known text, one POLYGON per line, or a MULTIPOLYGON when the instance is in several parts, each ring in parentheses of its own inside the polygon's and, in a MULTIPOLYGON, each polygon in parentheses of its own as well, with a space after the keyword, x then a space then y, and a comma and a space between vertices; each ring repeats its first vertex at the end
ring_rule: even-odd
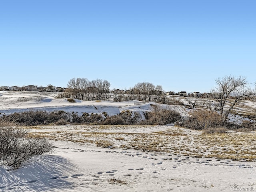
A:
POLYGON ((0 0, 0 86, 256 81, 256 0, 0 0))

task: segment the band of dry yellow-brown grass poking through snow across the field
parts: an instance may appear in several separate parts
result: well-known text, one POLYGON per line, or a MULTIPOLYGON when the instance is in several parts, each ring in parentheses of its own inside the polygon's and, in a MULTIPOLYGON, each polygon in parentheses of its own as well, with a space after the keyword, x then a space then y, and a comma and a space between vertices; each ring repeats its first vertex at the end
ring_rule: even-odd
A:
POLYGON ((63 131, 42 132, 33 127, 33 137, 47 137, 51 140, 64 140, 96 145, 104 148, 126 148, 144 152, 170 152, 188 156, 218 159, 256 160, 255 132, 228 132, 204 134, 203 131, 167 127, 164 131, 141 133, 136 130, 154 126, 74 126, 63 131))

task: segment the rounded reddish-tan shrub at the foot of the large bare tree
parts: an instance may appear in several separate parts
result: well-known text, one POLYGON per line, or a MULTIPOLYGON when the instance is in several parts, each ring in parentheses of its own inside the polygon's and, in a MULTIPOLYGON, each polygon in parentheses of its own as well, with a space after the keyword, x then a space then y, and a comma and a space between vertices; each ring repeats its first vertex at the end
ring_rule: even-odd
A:
POLYGON ((181 123, 181 126, 194 130, 218 128, 222 126, 222 120, 218 112, 211 110, 195 110, 186 121, 181 123))

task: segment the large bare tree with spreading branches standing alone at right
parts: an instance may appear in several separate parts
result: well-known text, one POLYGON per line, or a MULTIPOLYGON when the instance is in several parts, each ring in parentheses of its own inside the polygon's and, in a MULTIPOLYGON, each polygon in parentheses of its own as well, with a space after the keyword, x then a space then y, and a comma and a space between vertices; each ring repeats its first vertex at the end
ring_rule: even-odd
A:
POLYGON ((223 78, 217 78, 215 82, 217 86, 212 89, 211 94, 220 108, 222 122, 227 120, 228 114, 230 114, 239 100, 255 94, 255 90, 248 87, 249 83, 246 78, 241 76, 224 76, 223 78), (227 101, 231 96, 233 99, 229 100, 231 104, 228 105, 227 101))

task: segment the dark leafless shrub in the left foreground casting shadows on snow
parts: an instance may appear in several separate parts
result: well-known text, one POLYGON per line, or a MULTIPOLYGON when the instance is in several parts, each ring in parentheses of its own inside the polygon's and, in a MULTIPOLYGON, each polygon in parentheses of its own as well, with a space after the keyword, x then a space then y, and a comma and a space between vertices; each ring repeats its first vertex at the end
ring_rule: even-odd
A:
POLYGON ((18 169, 32 156, 51 152, 52 147, 44 138, 29 137, 28 129, 0 124, 0 165, 18 169))

